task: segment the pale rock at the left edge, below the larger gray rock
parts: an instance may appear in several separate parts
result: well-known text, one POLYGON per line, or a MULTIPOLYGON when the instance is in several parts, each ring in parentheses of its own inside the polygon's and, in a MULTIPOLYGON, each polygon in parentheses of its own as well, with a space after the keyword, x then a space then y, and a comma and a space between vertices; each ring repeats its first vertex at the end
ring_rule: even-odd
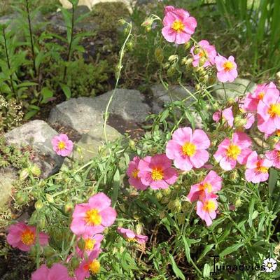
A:
POLYGON ((13 182, 17 179, 14 169, 3 168, 0 171, 0 209, 7 204, 12 193, 13 182))

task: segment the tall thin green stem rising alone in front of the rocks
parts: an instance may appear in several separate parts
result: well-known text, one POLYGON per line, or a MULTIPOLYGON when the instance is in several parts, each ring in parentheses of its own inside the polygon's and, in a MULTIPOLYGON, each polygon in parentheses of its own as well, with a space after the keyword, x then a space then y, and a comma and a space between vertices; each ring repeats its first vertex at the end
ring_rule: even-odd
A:
MULTIPOLYGON (((105 116, 104 116, 104 137, 105 137, 106 144, 108 144, 108 138, 107 138, 107 134, 106 134, 106 125, 107 125, 107 120, 109 118, 109 114, 108 114, 109 107, 110 107, 111 102, 113 100, 113 96, 116 93, 116 90, 117 90, 117 87, 118 87, 118 82, 120 80, 120 72, 122 71, 122 68, 123 68, 123 56, 125 55, 125 45, 127 44, 127 41, 129 40, 129 38, 130 38, 130 36, 132 34, 132 23, 130 23, 129 26, 130 26, 130 31, 129 31, 128 35, 127 35, 127 38, 125 39, 125 43, 123 43, 123 46, 120 49, 120 60, 118 62, 118 71, 116 73, 116 78, 117 78, 116 85, 115 85, 115 88, 113 90, 113 93, 112 93, 112 95, 111 95, 111 97, 109 99, 109 102, 108 102, 108 104, 106 106, 106 110, 105 110, 105 116)), ((111 153, 111 150, 110 150, 110 153, 111 153)))

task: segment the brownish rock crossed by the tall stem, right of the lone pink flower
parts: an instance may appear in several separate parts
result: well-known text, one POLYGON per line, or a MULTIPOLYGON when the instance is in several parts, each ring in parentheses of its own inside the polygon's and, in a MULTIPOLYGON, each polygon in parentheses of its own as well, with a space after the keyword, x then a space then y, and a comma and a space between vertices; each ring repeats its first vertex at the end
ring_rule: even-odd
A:
MULTIPOLYGON (((106 126, 106 135, 109 141, 114 141, 122 135, 113 127, 106 126)), ((71 167, 71 162, 89 162, 98 155, 99 147, 105 143, 104 128, 102 124, 96 125, 90 132, 83 134, 80 141, 73 149, 71 160, 68 158, 64 161, 64 166, 71 167)))

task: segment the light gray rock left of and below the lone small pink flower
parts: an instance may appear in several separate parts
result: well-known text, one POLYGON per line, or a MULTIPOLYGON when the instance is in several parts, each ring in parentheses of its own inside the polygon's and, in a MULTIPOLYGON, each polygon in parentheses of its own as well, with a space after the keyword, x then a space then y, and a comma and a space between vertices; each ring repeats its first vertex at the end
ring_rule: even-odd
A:
POLYGON ((6 133, 5 138, 8 144, 34 148, 33 161, 40 167, 41 177, 47 178, 59 170, 64 160, 52 150, 51 139, 55 135, 57 132, 43 120, 32 120, 6 133))

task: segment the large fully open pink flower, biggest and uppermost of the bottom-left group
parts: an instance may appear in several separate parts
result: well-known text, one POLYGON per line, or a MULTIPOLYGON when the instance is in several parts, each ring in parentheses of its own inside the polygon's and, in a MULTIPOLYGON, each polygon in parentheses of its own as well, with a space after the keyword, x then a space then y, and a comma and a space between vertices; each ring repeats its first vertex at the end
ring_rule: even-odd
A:
POLYGON ((90 197, 89 202, 77 204, 73 211, 71 230, 75 235, 96 235, 113 225, 117 212, 104 193, 90 197))

